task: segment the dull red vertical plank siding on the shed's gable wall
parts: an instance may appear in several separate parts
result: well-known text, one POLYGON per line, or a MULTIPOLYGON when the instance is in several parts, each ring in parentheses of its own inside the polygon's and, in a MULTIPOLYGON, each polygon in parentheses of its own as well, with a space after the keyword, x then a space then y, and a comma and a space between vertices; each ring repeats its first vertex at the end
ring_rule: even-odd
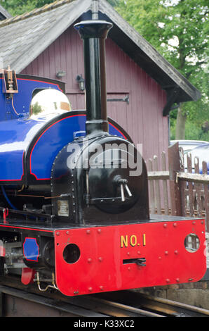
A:
MULTIPOLYGON (((107 102, 109 117, 116 120, 143 145, 143 157, 148 161, 168 148, 168 118, 163 117, 166 93, 112 39, 106 42, 107 99, 129 96, 123 101, 107 102)), ((83 42, 73 27, 43 51, 22 73, 58 79, 58 70, 66 72, 60 80, 66 82, 66 94, 73 109, 85 109, 84 93, 79 90, 77 75, 84 77, 83 42)), ((159 158, 161 167, 161 158, 159 158)))

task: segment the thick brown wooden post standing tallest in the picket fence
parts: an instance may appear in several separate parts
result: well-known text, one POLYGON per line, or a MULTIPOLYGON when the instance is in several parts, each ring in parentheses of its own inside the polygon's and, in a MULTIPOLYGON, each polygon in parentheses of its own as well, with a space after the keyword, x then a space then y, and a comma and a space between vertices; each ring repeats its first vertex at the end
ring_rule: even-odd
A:
POLYGON ((170 200, 171 215, 182 216, 182 197, 180 181, 177 182, 176 175, 180 172, 179 143, 168 147, 168 168, 170 173, 170 200))

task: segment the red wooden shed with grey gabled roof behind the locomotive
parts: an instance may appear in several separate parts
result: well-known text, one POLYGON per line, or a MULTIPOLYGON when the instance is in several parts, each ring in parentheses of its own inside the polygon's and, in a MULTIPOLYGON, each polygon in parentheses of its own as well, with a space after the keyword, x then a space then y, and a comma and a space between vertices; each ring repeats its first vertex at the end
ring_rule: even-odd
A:
POLYGON ((145 160, 168 147, 170 107, 197 100, 199 92, 173 68, 106 0, 61 0, 0 22, 0 57, 17 73, 66 82, 73 109, 84 109, 83 42, 74 23, 99 17, 114 27, 106 42, 107 109, 145 160))

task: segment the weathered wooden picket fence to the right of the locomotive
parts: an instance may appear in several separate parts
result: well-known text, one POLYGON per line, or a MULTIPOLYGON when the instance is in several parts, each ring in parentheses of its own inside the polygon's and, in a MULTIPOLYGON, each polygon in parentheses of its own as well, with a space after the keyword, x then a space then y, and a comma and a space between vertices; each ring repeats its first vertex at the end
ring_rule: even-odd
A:
POLYGON ((150 213, 205 218, 209 232, 209 175, 203 162, 203 174, 199 173, 198 158, 187 155, 187 170, 184 171, 184 155, 178 143, 168 147, 166 153, 147 163, 149 180, 150 213))

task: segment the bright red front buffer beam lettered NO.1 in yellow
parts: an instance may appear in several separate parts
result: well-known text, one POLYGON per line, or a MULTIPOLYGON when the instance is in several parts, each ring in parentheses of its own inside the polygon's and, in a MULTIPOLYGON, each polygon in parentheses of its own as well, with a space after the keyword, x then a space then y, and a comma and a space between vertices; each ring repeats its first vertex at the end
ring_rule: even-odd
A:
POLYGON ((74 296, 200 280, 205 221, 173 219, 55 230, 58 289, 74 296))

